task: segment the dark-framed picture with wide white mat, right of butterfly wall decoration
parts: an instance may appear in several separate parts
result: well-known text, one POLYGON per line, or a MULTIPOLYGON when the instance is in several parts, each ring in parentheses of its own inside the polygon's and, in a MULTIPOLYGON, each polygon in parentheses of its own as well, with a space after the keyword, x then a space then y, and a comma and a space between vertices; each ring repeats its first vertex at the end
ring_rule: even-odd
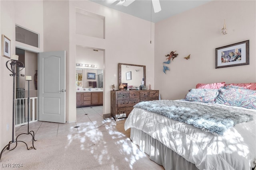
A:
POLYGON ((249 64, 249 40, 215 49, 215 68, 249 64))

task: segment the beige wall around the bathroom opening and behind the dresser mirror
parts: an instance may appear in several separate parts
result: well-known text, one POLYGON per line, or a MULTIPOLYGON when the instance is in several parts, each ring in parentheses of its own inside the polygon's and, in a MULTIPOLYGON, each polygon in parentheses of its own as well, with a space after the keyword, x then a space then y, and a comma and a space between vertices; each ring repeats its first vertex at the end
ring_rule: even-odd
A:
MULTIPOLYGON (((90 1, 70 1, 70 55, 76 46, 104 50, 104 106, 103 114, 110 113, 111 85, 118 87, 118 63, 146 65, 147 84, 154 89, 154 38, 150 44, 150 22, 106 8, 90 1), (105 39, 76 34, 76 8, 105 17, 105 39)), ((152 24, 154 37, 154 24, 152 24)), ((75 60, 70 63, 70 105, 76 105, 75 60), (72 77, 72 79, 71 79, 72 77), (71 86, 74 86, 72 88, 71 86)))

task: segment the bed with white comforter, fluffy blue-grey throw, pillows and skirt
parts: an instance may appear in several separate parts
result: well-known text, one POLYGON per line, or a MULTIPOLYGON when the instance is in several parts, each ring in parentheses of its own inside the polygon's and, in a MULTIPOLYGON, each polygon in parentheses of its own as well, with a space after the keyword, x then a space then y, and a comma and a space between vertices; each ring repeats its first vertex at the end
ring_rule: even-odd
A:
POLYGON ((165 169, 255 169, 255 84, 238 85, 196 86, 182 100, 140 102, 124 129, 165 169))

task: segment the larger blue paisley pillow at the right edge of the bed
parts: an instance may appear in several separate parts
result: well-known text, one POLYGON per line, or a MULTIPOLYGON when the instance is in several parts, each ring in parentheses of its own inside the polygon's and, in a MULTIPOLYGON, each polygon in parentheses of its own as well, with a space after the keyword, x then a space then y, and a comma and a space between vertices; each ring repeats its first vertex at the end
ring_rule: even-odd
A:
POLYGON ((239 106, 247 109, 256 109, 256 91, 237 86, 220 88, 215 100, 218 104, 239 106))

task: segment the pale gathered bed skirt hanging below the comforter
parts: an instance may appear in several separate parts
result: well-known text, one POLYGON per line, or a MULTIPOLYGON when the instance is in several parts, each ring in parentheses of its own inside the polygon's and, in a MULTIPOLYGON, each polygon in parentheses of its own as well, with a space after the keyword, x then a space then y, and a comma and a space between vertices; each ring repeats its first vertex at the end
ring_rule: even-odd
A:
POLYGON ((131 128, 130 139, 140 147, 149 158, 166 170, 198 170, 195 164, 188 162, 158 140, 136 128, 131 128))

